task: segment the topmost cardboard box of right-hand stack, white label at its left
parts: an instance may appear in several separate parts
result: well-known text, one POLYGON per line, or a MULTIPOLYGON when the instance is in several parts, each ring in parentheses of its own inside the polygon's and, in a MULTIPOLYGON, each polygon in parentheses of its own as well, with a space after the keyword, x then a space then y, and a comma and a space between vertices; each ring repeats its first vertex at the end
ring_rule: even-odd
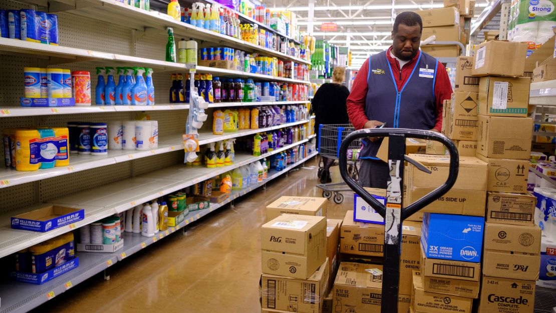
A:
POLYGON ((492 40, 475 46, 474 76, 523 76, 527 43, 492 40))

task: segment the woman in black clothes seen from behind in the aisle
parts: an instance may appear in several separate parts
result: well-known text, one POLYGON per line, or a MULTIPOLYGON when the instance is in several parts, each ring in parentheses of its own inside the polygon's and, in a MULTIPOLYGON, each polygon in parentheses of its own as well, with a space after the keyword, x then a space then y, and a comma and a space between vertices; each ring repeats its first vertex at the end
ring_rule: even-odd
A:
MULTIPOLYGON (((312 100, 312 110, 315 112, 315 133, 319 136, 319 125, 321 124, 348 124, 346 99, 349 96, 349 90, 342 83, 346 78, 346 70, 344 67, 335 67, 332 72, 332 83, 324 83, 316 91, 312 100)), ((319 137, 317 137, 319 142, 319 137)), ((334 163, 334 159, 322 157, 324 169, 320 176, 321 183, 331 182, 330 166, 334 163)))

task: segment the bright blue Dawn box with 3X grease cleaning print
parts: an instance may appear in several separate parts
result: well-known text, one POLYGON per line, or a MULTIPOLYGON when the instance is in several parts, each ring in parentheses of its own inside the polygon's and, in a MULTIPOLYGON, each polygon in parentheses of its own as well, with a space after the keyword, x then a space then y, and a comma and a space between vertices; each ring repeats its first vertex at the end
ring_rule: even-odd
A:
POLYGON ((480 262, 484 223, 478 216, 423 213, 421 245, 426 257, 480 262))

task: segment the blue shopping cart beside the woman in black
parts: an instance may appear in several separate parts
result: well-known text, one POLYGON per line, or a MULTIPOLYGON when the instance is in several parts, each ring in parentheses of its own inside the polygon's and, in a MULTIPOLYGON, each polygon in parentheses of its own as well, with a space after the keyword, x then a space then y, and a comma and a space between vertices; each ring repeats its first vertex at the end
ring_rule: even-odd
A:
MULTIPOLYGON (((342 144, 342 141, 347 135, 354 131, 355 128, 351 124, 319 125, 319 146, 317 147, 319 155, 338 160, 340 155, 340 145, 342 144)), ((359 179, 358 159, 360 150, 361 141, 358 139, 350 143, 346 152, 348 160, 347 172, 354 180, 359 179)), ((337 165, 337 163, 334 162, 333 165, 337 165)), ((321 160, 319 161, 319 171, 317 172, 317 176, 319 178, 322 175, 323 170, 324 162, 322 162, 321 158, 321 160)), ((334 202, 336 203, 342 203, 344 201, 344 195, 342 195, 340 192, 351 191, 351 188, 348 187, 344 182, 320 183, 316 186, 322 189, 322 196, 325 198, 330 199, 332 197, 332 193, 334 193, 334 202)))

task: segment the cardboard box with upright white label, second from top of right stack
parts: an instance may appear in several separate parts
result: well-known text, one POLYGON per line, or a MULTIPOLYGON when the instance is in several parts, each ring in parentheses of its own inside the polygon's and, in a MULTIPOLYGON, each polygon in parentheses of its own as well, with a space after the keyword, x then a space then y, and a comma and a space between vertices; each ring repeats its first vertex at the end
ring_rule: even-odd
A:
POLYGON ((479 114, 527 117, 529 77, 485 76, 479 82, 479 114))

